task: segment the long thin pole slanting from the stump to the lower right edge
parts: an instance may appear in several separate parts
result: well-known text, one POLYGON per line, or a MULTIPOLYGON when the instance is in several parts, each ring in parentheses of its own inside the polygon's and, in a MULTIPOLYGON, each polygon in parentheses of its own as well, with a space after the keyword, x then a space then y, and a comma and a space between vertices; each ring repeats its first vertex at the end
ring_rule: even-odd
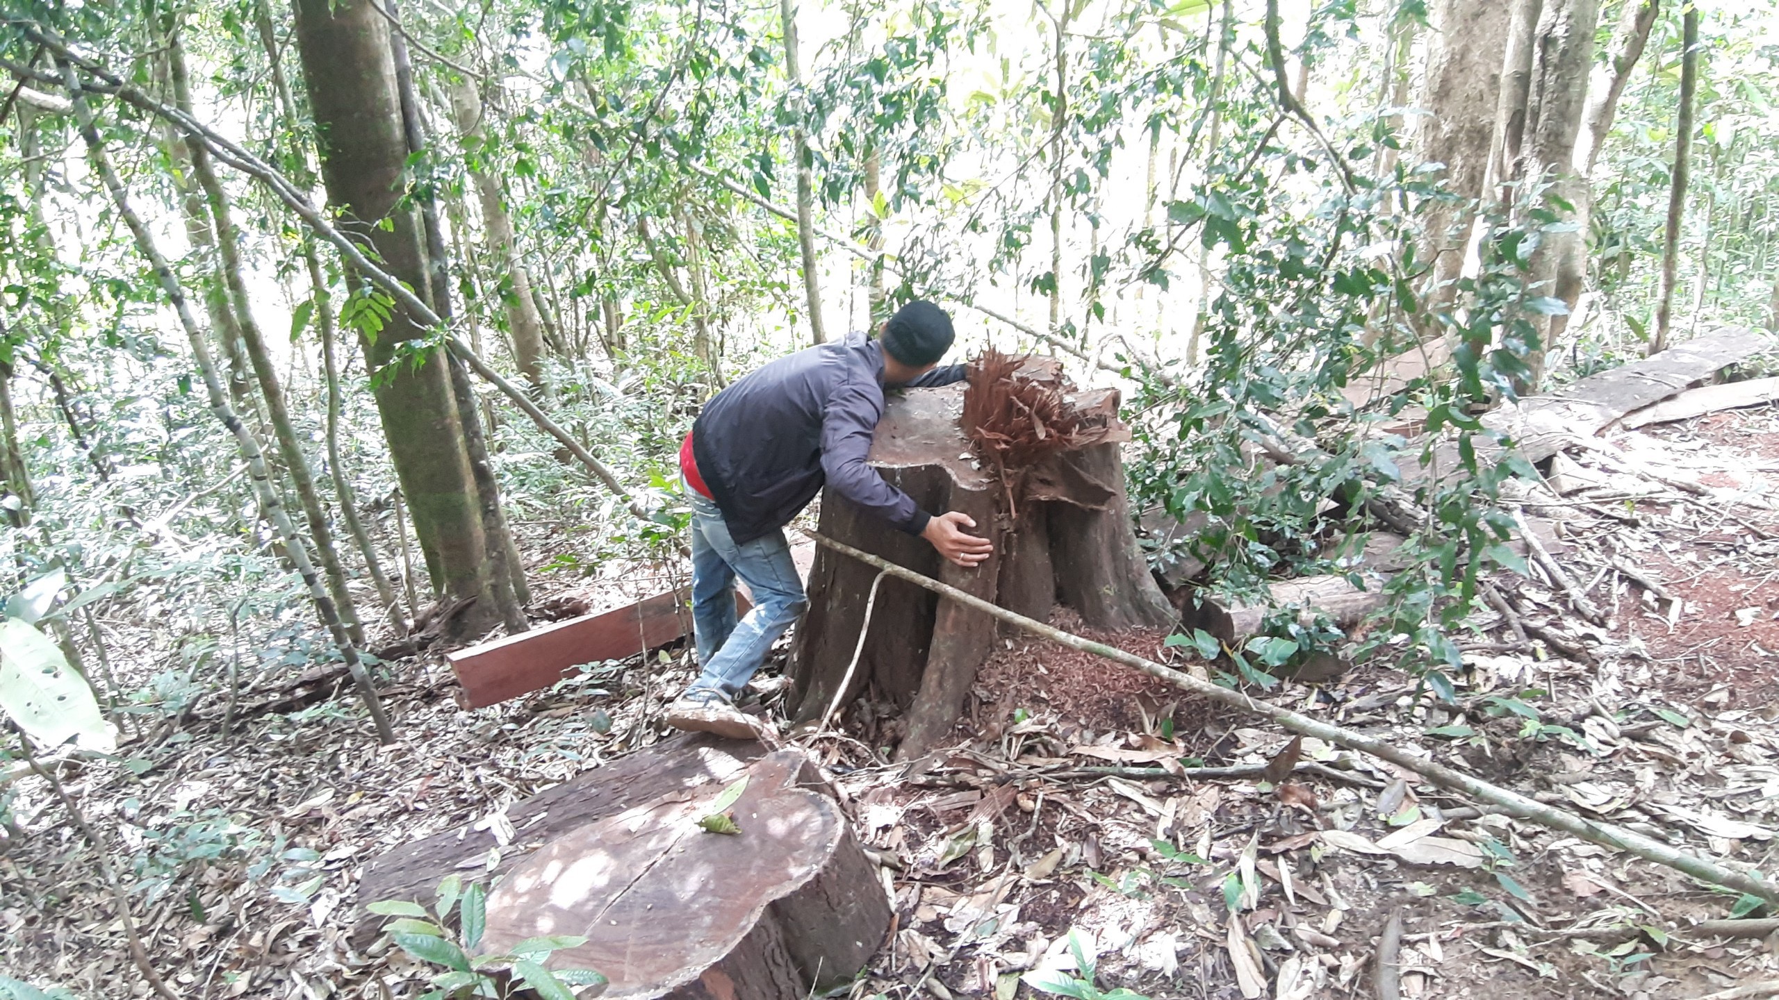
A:
POLYGON ((1701 856, 1686 854, 1686 852, 1676 851, 1676 849, 1669 847, 1667 843, 1662 843, 1660 840, 1654 840, 1651 836, 1644 836, 1640 833, 1633 833, 1633 831, 1619 827, 1619 826, 1612 826, 1612 824, 1603 824, 1603 822, 1594 822, 1594 820, 1589 820, 1589 819, 1582 819, 1582 817, 1578 817, 1578 815, 1574 815, 1574 813, 1571 813, 1567 810, 1558 810, 1555 806, 1546 806, 1544 802, 1539 802, 1539 801, 1530 799, 1526 795, 1521 795, 1517 792, 1510 792, 1507 788, 1500 788, 1496 785, 1489 785, 1487 781, 1482 781, 1482 779, 1473 778, 1469 774, 1464 774, 1461 770, 1453 770, 1450 767, 1445 767, 1443 763, 1434 763, 1430 760, 1430 754, 1420 753, 1420 749, 1414 747, 1413 744, 1409 744, 1409 746, 1389 744, 1389 742, 1377 740, 1377 738, 1372 738, 1372 737, 1366 737, 1366 735, 1361 735, 1361 733, 1354 733, 1352 730, 1345 730, 1341 726, 1331 726, 1327 722, 1320 722, 1316 719, 1311 719, 1308 715, 1300 715, 1300 714, 1292 712, 1288 708, 1279 708, 1277 705, 1270 705, 1267 701, 1256 701, 1256 699, 1249 698, 1247 694, 1244 694, 1240 690, 1231 690, 1228 687, 1219 687, 1215 683, 1199 680, 1195 676, 1179 673, 1176 669, 1163 667, 1162 664, 1156 664, 1155 660, 1146 660, 1146 658, 1142 658, 1142 657, 1139 657, 1135 653, 1126 653, 1124 649, 1119 649, 1117 646, 1107 646, 1105 642, 1094 642, 1091 639, 1082 639, 1080 635, 1073 635, 1073 633, 1064 632, 1060 628, 1055 628, 1051 625, 1044 625, 1042 621, 1035 621, 1035 619, 1025 617, 1023 614, 1014 614, 1010 610, 994 607, 993 603, 984 601, 982 598, 971 596, 971 594, 968 594, 968 593, 964 593, 964 591, 961 591, 957 587, 941 584, 941 582, 938 582, 938 580, 934 580, 930 577, 923 577, 920 573, 914 573, 913 569, 906 569, 902 566, 897 566, 895 562, 890 562, 890 560, 879 559, 879 557, 875 557, 875 555, 872 555, 868 552, 852 548, 850 544, 841 544, 841 543, 838 543, 834 539, 829 539, 829 537, 820 536, 817 532, 811 532, 808 528, 804 528, 802 534, 809 536, 818 544, 824 544, 824 546, 827 546, 827 548, 831 548, 834 552, 840 552, 843 555, 850 555, 852 559, 857 559, 857 560, 861 560, 861 562, 865 562, 868 566, 875 566, 877 569, 882 569, 882 571, 890 573, 891 577, 897 577, 900 580, 907 580, 909 584, 914 584, 916 587, 925 587, 925 589, 929 589, 929 591, 932 591, 936 594, 946 596, 946 598, 950 598, 954 601, 959 601, 959 603, 962 603, 962 605, 966 605, 970 609, 980 610, 980 612, 984 612, 984 614, 987 614, 991 617, 996 617, 1000 621, 1005 621, 1009 625, 1016 625, 1016 626, 1019 626, 1019 628, 1023 628, 1026 632, 1032 632, 1035 635, 1042 635, 1044 639, 1050 639, 1051 642, 1057 642, 1060 646, 1067 646, 1069 649, 1078 649, 1082 653, 1092 653, 1096 657, 1105 657, 1107 660, 1112 660, 1115 664, 1123 664, 1126 667, 1131 667, 1135 671, 1149 674, 1149 676, 1153 676, 1156 680, 1163 680, 1163 681, 1167 681, 1167 683, 1171 683, 1174 687, 1190 690, 1190 692, 1199 694, 1199 696, 1203 696, 1203 698, 1206 698, 1210 701, 1215 701, 1219 705, 1228 705, 1229 708, 1236 708, 1236 710, 1242 710, 1242 712, 1261 715, 1265 719, 1272 719, 1274 722, 1277 722, 1286 731, 1299 733, 1299 735, 1304 735, 1304 737, 1315 737, 1315 738, 1318 738, 1322 742, 1327 742, 1327 744, 1334 744, 1334 746, 1340 746, 1340 747, 1347 747, 1350 751, 1366 753, 1366 754, 1372 754, 1375 758, 1388 760, 1389 763, 1395 763, 1397 767, 1404 767, 1407 770, 1413 770, 1414 774, 1420 774, 1421 778, 1425 778, 1432 785, 1439 785, 1441 788, 1450 788, 1453 792, 1462 792, 1462 794, 1466 794, 1466 795, 1469 795, 1473 799, 1480 799, 1484 802, 1489 802, 1491 806, 1500 806, 1509 815, 1514 815, 1514 817, 1519 817, 1519 819, 1525 819, 1525 820, 1532 820, 1532 822, 1535 822, 1539 826, 1546 826, 1550 829, 1557 829, 1557 831, 1567 833, 1571 836, 1580 836, 1582 840, 1587 840, 1587 842, 1592 842, 1592 843, 1599 843, 1599 845, 1610 847, 1614 851, 1630 852, 1630 854, 1633 854, 1637 858, 1642 858, 1646 861, 1654 861, 1656 865, 1663 865, 1663 867, 1685 872, 1685 874, 1688 874, 1688 875, 1692 875, 1692 877, 1695 877, 1699 881, 1710 883, 1710 884, 1717 884, 1717 886, 1731 888, 1731 890, 1736 890, 1736 891, 1742 891, 1742 893, 1749 893, 1752 897, 1765 899, 1768 902, 1779 902, 1779 884, 1767 883, 1767 881, 1761 881, 1759 877, 1731 870, 1722 861, 1719 861, 1715 858, 1710 858, 1710 856, 1703 856, 1701 858, 1701 856))

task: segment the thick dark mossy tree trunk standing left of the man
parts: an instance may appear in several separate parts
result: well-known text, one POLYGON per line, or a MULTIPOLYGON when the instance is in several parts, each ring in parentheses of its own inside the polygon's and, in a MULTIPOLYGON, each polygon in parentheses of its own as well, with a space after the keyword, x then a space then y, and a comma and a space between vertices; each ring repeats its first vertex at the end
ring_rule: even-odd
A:
MULTIPOLYGON (((429 288, 420 219, 400 205, 407 139, 388 21, 372 0, 297 0, 295 9, 322 180, 343 215, 342 228, 368 240, 386 272, 411 288, 429 288)), ((489 546, 447 358, 432 351, 418 363, 391 367, 397 349, 423 335, 397 308, 374 336, 361 331, 365 363, 379 375, 377 411, 434 593, 484 598, 489 546)), ((459 619, 463 632, 486 630, 498 616, 493 601, 482 603, 459 619)))

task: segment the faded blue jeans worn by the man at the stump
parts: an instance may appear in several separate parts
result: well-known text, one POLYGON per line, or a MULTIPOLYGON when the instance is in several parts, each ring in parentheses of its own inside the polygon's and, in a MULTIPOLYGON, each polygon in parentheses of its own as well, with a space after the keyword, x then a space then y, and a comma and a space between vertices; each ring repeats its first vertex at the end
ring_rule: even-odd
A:
POLYGON ((735 544, 717 504, 690 486, 692 498, 692 632, 704 667, 687 694, 735 701, 777 637, 797 621, 808 600, 785 532, 735 544), (735 578, 753 593, 754 607, 735 621, 735 578))

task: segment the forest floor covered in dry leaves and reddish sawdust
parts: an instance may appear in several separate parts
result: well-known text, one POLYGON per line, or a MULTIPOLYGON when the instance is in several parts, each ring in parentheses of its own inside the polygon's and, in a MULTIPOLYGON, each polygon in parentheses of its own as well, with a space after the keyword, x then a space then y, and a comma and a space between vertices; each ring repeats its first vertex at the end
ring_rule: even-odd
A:
MULTIPOLYGON (((1573 459, 1590 486, 1525 500, 1557 521, 1560 559, 1603 625, 1537 571, 1501 577, 1514 619, 1471 619, 1455 705, 1381 665, 1265 698, 1772 874, 1779 413, 1606 443, 1610 463, 1573 459)), ((1071 940, 1101 991, 1373 996, 1393 913, 1404 996, 1692 998, 1779 979, 1779 941, 1690 929, 1727 916, 1733 895, 1313 740, 1268 781, 1284 733, 1112 664, 1009 642, 954 751, 907 769, 868 740, 813 747, 895 890, 891 938, 852 996, 1069 988, 1085 977, 1071 940)), ((1172 655, 1158 635, 1119 642, 1172 655)), ((62 769, 180 996, 420 996, 431 970, 349 940, 372 902, 356 895, 365 863, 498 822, 507 802, 658 740, 660 708, 692 673, 667 651, 463 712, 438 662, 393 669, 393 747, 377 747, 349 694, 246 717, 231 737, 222 708, 199 703, 142 733, 128 765, 62 769)), ((148 995, 66 810, 37 779, 5 794, 18 829, 0 852, 0 968, 78 996, 148 995)))

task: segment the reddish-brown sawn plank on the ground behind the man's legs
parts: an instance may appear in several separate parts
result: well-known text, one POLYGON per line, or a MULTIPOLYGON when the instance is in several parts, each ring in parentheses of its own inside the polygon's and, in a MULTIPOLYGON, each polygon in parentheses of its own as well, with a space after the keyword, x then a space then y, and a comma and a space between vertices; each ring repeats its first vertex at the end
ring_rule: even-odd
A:
MULTIPOLYGON (((795 544, 790 555, 797 564, 797 575, 808 580, 809 564, 815 562, 815 544, 795 544)), ((747 614, 747 587, 737 589, 735 609, 737 614, 747 614)), ((464 708, 484 708, 543 690, 569 676, 580 664, 623 660, 690 633, 690 598, 681 587, 616 610, 571 617, 445 653, 445 658, 463 685, 457 701, 464 708)))

